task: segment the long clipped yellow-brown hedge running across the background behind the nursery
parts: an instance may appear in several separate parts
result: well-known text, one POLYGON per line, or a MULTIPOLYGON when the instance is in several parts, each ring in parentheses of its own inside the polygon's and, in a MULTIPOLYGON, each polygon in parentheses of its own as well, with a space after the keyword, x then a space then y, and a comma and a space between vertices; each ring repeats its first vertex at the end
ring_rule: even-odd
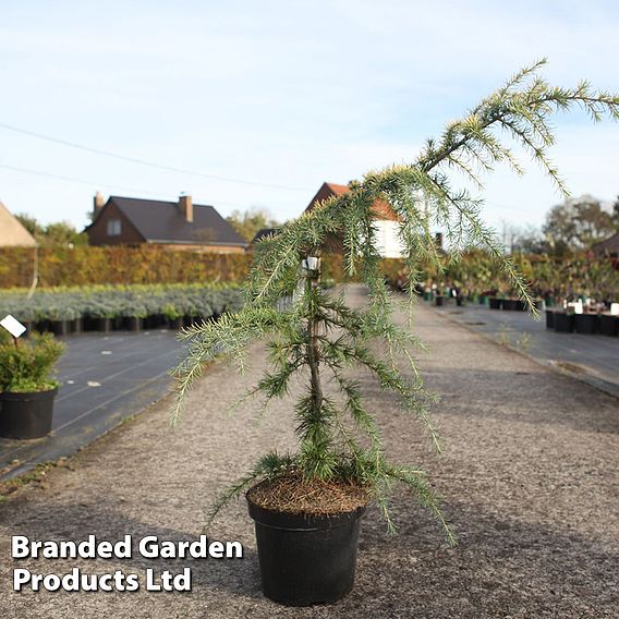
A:
MULTIPOLYGON (((0 289, 27 288, 33 277, 33 250, 0 248, 0 289)), ((421 266, 422 281, 451 281, 471 293, 497 289, 509 291, 505 276, 497 272, 489 256, 481 251, 469 252, 462 262, 449 264, 438 274, 421 266)), ((252 254, 196 253, 144 245, 137 247, 76 246, 39 248, 39 289, 94 284, 134 283, 207 283, 240 282, 247 272, 252 254)), ((534 292, 567 298, 588 294, 616 299, 619 271, 609 260, 573 256, 558 260, 547 256, 514 256, 518 266, 532 282, 534 292)), ((397 286, 402 260, 384 259, 387 279, 397 286)), ((343 278, 342 256, 327 255, 323 259, 325 280, 340 282, 343 278)))

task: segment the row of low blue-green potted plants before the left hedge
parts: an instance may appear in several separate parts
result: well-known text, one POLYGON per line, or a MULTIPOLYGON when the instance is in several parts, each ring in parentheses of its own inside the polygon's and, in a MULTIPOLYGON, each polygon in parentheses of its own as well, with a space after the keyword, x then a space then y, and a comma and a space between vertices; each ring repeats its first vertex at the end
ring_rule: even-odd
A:
POLYGON ((56 335, 83 330, 181 328, 235 312, 243 305, 234 284, 142 284, 57 288, 0 292, 0 314, 13 315, 29 330, 56 335))

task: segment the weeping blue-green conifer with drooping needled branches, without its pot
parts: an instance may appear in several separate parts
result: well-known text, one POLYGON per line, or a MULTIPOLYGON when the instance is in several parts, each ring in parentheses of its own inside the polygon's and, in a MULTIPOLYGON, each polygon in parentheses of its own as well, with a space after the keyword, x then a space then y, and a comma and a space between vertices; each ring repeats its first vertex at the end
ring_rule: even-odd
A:
POLYGON ((482 220, 483 201, 473 196, 468 186, 453 185, 454 178, 463 178, 465 185, 482 191, 484 178, 501 163, 522 174, 515 146, 567 195, 565 181, 548 156, 555 143, 550 119, 557 112, 580 108, 593 122, 604 117, 619 120, 619 97, 594 90, 585 81, 573 88, 553 86, 539 74, 545 62, 543 59, 522 69, 461 120, 449 123, 438 139, 426 142, 412 163, 368 172, 351 183, 344 195, 316 205, 278 234, 258 243, 244 308, 222 316, 218 323, 183 332, 190 345, 174 372, 178 398, 172 422, 178 420, 189 389, 204 367, 223 354, 234 359, 242 371, 245 350, 255 339, 271 339, 271 368, 250 395, 259 391, 267 402, 283 398, 293 377, 303 378, 306 386, 295 408, 299 452, 262 459, 222 495, 215 511, 258 477, 271 478, 294 469, 308 480, 352 480, 363 485, 383 511, 389 530, 393 523, 388 497, 393 483, 402 483, 437 519, 448 542, 454 542, 425 472, 387 460, 374 412, 367 410, 360 384, 347 375, 360 368, 367 371, 384 391, 401 402, 404 411, 416 416, 440 450, 438 433, 429 418, 433 397, 425 391, 410 352, 418 342, 393 323, 396 304, 380 272, 373 209, 377 201, 384 201, 398 216, 411 308, 420 266, 434 265, 438 271, 442 268, 442 256, 432 233, 433 227, 440 227, 450 242, 450 259, 458 260, 466 245, 485 247, 533 311, 525 281, 482 220), (307 278, 304 290, 288 310, 276 311, 277 300, 295 289, 301 260, 319 255, 319 248, 335 236, 341 240, 345 275, 359 277, 367 286, 367 306, 348 307, 343 296, 321 290, 316 274, 301 272, 307 278), (399 365, 401 357, 405 369, 399 365), (341 403, 324 390, 325 380, 333 380, 339 387, 341 403))

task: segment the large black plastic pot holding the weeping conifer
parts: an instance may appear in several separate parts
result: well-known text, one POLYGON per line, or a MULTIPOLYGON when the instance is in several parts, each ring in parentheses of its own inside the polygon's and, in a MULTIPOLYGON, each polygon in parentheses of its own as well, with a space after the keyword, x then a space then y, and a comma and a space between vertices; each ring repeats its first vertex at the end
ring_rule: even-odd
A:
POLYGON ((250 499, 247 505, 268 598, 311 606, 336 602, 351 591, 365 507, 328 517, 270 511, 250 499))

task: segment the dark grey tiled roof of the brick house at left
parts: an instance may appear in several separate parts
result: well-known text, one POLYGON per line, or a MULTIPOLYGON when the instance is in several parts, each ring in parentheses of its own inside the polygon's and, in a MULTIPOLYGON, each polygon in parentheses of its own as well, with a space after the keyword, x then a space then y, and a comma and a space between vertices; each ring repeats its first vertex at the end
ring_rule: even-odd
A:
POLYGON ((110 203, 117 205, 148 242, 243 246, 247 244, 213 206, 194 204, 193 221, 190 222, 179 210, 178 202, 112 195, 106 206, 110 203))

